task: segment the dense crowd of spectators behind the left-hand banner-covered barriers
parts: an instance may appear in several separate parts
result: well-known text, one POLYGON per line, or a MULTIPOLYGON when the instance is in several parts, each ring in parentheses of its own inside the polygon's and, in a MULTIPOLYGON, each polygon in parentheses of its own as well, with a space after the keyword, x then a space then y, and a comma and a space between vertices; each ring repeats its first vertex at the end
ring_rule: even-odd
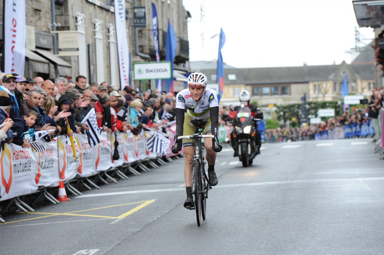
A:
POLYGON ((51 136, 84 133, 89 127, 81 121, 92 108, 98 127, 108 133, 156 130, 175 119, 175 103, 172 93, 88 84, 83 75, 72 81, 1 73, 0 141, 28 148, 26 137, 35 131, 49 130, 51 136))

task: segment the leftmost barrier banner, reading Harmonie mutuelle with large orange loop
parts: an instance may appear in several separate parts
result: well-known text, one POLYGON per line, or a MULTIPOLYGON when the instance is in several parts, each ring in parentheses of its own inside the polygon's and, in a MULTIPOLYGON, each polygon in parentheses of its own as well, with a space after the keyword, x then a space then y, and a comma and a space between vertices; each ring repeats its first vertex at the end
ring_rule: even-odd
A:
POLYGON ((0 201, 26 195, 37 190, 36 159, 32 149, 15 144, 4 144, 1 151, 0 201))

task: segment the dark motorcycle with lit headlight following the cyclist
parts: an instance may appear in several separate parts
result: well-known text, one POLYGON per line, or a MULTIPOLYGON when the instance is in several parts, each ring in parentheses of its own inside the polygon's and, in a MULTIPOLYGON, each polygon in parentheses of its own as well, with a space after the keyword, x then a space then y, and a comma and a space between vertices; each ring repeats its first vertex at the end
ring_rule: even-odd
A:
POLYGON ((236 139, 235 144, 237 147, 235 151, 237 150, 239 160, 243 163, 243 167, 252 165, 253 159, 260 150, 255 143, 257 129, 255 121, 263 119, 263 112, 258 111, 255 117, 256 118, 252 117, 251 110, 247 106, 241 105, 232 123, 233 133, 231 138, 236 139))

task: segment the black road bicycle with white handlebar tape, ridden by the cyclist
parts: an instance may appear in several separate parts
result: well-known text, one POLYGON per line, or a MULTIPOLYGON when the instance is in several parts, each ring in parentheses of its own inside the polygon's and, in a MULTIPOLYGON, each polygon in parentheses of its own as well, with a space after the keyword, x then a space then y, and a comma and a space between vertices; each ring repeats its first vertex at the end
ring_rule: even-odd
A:
POLYGON ((207 174, 205 173, 206 162, 204 162, 203 155, 204 145, 201 142, 201 139, 203 138, 214 138, 214 136, 203 135, 202 128, 199 127, 197 129, 197 132, 195 132, 191 136, 177 137, 177 139, 192 139, 193 146, 195 148, 195 152, 193 154, 192 159, 192 194, 194 196, 194 207, 189 209, 196 210, 197 226, 200 226, 202 220, 205 220, 207 204, 206 199, 208 198, 208 190, 212 189, 212 186, 208 182, 207 174))

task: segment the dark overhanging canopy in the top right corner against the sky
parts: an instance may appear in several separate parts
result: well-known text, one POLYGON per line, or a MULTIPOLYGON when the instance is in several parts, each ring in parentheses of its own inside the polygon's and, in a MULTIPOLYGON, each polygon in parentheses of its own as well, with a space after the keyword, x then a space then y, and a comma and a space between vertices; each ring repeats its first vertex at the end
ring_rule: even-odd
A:
POLYGON ((383 0, 352 1, 359 27, 380 28, 383 25, 383 0))

